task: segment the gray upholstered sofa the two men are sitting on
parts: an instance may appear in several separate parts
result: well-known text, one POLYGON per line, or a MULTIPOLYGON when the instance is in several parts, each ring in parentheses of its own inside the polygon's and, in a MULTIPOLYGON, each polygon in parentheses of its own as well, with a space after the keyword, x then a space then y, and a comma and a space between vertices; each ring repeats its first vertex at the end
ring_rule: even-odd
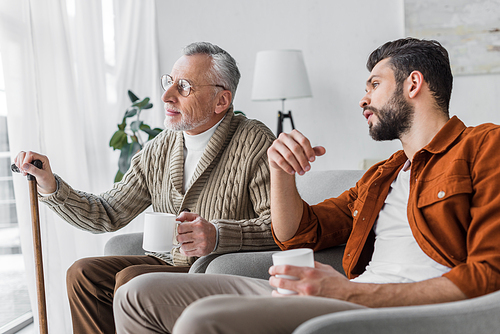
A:
MULTIPOLYGON (((337 196, 353 186, 363 171, 309 172, 297 177, 297 188, 308 203, 337 196)), ((130 233, 111 238, 106 255, 143 254, 142 233, 130 233)), ((341 273, 343 247, 315 253, 315 260, 332 265, 341 273)), ((219 273, 269 278, 272 264, 269 252, 207 255, 191 267, 191 273, 219 273)), ((353 333, 440 333, 491 334, 500 333, 500 291, 467 301, 446 304, 392 307, 329 314, 305 322, 294 334, 353 333)))

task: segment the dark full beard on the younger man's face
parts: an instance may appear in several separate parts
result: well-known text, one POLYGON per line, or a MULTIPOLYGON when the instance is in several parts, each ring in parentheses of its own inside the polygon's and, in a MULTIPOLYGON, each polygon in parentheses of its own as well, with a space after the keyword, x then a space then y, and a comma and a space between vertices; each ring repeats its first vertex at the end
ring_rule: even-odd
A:
POLYGON ((370 124, 370 136, 376 141, 401 139, 410 130, 415 115, 415 108, 404 98, 402 85, 382 108, 368 106, 364 109, 377 116, 378 123, 370 124))

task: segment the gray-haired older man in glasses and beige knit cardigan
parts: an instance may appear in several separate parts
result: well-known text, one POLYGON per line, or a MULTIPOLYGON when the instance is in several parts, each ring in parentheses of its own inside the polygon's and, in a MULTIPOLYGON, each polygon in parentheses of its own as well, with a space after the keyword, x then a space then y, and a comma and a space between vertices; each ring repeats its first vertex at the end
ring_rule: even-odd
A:
POLYGON ((116 231, 150 205, 179 215, 180 249, 144 256, 85 258, 68 270, 75 333, 114 333, 113 295, 147 272, 187 272, 210 253, 277 248, 270 227, 267 149, 275 139, 261 122, 233 113, 240 73, 210 43, 193 43, 162 76, 165 131, 132 159, 123 180, 99 196, 73 190, 47 157, 21 152, 16 165, 38 181, 40 201, 70 224, 116 231), (40 159, 43 168, 29 164, 40 159))

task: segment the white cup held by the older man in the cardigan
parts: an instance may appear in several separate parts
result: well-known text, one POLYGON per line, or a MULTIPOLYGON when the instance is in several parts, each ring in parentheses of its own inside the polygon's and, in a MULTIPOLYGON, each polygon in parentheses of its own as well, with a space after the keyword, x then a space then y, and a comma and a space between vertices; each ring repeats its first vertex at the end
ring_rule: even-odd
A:
POLYGON ((151 252, 167 252, 178 247, 175 215, 164 212, 146 212, 142 248, 151 252))

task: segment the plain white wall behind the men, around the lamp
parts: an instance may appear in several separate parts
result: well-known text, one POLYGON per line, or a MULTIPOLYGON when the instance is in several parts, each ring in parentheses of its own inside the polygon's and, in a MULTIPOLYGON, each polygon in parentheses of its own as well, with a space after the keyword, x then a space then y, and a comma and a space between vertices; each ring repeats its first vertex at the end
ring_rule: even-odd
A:
MULTIPOLYGON (((404 37, 403 0, 157 0, 160 69, 169 73, 182 47, 209 41, 238 62, 242 78, 235 108, 276 132, 280 101, 251 101, 255 55, 269 49, 301 49, 312 98, 288 100, 295 126, 327 155, 322 169, 357 169, 363 159, 388 157, 399 141, 374 142, 358 102, 364 94, 371 51, 404 37)), ((451 114, 470 125, 500 122, 499 76, 455 80, 451 114)), ((285 131, 289 131, 285 120, 285 131)))

